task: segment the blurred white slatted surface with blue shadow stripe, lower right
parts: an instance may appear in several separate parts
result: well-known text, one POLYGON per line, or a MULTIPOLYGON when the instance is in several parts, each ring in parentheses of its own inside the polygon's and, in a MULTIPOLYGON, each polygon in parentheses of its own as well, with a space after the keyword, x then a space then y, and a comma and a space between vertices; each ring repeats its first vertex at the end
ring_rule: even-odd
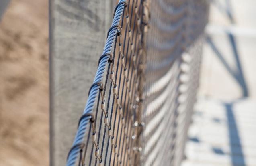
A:
POLYGON ((256 100, 199 99, 182 166, 255 166, 256 100))

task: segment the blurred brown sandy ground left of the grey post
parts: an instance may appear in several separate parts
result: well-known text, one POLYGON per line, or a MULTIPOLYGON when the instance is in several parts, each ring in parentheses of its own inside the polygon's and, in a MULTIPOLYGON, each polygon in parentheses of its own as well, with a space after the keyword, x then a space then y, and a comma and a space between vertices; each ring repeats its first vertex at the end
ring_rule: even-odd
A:
POLYGON ((12 0, 0 23, 0 165, 49 163, 48 1, 12 0))

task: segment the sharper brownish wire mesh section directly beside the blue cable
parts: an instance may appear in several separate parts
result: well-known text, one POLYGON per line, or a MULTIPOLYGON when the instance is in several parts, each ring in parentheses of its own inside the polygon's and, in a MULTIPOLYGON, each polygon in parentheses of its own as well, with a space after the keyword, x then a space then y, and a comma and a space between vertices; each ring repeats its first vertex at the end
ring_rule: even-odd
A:
POLYGON ((120 0, 117 8, 121 5, 125 7, 119 26, 109 29, 111 33, 115 28, 115 41, 78 165, 137 165, 135 161, 139 161, 133 159, 138 158, 139 151, 135 147, 140 128, 137 119, 143 94, 148 4, 146 0, 120 0))

